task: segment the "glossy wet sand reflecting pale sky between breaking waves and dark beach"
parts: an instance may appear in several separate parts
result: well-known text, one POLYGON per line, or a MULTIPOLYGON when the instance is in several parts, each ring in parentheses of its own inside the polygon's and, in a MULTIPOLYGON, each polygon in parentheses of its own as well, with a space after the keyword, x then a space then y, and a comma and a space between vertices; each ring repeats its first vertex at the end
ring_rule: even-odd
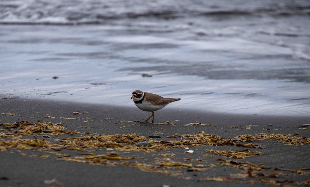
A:
MULTIPOLYGON (((210 33, 218 32, 206 23, 210 33)), ((138 89, 182 98, 174 104, 179 109, 308 116, 310 65, 295 56, 299 49, 294 47, 310 40, 294 37, 292 43, 289 37, 275 45, 269 43, 278 40, 272 35, 268 43, 260 41, 260 26, 238 27, 257 41, 245 39, 238 30, 235 37, 193 37, 190 30, 179 29, 170 33, 108 25, 2 25, 0 94, 103 105, 113 100, 113 106, 131 107, 128 94, 138 89)))

